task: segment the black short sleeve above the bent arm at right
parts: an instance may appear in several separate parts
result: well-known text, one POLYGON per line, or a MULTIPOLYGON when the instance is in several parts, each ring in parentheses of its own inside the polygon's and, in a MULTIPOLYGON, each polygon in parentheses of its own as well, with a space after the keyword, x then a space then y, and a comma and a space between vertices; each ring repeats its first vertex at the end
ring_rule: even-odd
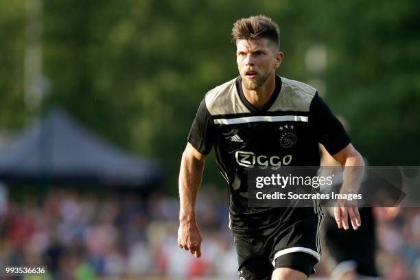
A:
POLYGON ((309 124, 329 154, 334 155, 351 143, 349 135, 323 99, 315 94, 310 106, 309 124))

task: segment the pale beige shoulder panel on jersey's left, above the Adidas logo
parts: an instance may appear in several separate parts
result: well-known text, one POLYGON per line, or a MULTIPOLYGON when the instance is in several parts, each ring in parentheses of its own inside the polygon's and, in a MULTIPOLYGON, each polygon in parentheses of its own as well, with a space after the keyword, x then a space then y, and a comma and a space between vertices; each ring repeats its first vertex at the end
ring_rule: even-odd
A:
POLYGON ((240 100, 235 81, 236 78, 216 86, 206 94, 206 106, 210 115, 250 113, 240 100))

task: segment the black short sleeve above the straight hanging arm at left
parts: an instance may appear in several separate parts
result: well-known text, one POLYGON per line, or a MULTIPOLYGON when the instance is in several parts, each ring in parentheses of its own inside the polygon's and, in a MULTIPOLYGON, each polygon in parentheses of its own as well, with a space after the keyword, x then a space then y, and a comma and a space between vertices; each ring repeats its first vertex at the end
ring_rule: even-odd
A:
POLYGON ((215 127, 207 110, 205 99, 202 100, 197 110, 196 118, 189 130, 188 142, 201 154, 211 152, 215 141, 215 127))

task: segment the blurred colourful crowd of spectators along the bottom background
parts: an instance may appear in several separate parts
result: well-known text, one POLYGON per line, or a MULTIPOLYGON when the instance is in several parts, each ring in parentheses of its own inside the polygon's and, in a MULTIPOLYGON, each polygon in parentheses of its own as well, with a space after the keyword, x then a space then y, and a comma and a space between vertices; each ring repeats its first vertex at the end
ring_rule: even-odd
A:
MULTIPOLYGON (((202 257, 177 246, 178 198, 159 192, 48 189, 19 202, 0 189, 0 263, 47 266, 51 279, 110 276, 237 278, 227 191, 203 187, 202 257)), ((377 208, 377 266, 384 279, 420 279, 420 210, 377 208)), ((325 252, 325 250, 324 250, 325 252)), ((328 253, 318 276, 329 275, 328 253)))

